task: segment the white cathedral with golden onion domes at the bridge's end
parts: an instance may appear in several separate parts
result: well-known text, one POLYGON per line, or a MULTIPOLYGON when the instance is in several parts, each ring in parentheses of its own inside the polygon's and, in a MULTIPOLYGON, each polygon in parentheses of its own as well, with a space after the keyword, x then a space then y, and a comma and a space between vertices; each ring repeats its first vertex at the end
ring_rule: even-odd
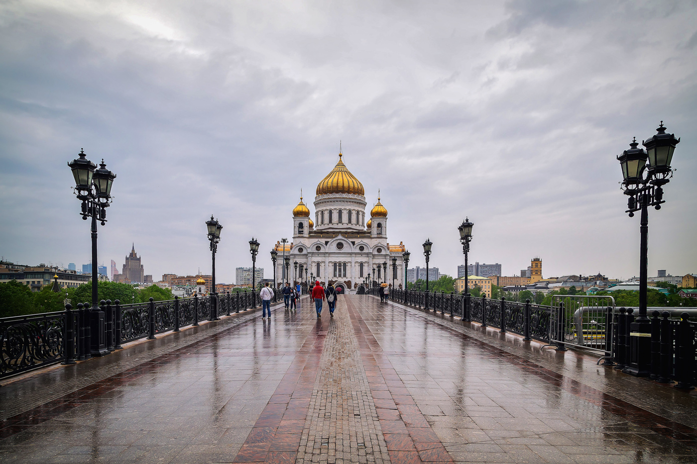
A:
POLYGON ((301 194, 300 203, 293 209, 293 242, 275 245, 278 286, 284 281, 284 253, 290 256, 291 284, 304 282, 307 275, 307 279, 332 283, 345 293, 365 293, 365 284, 371 281, 374 286, 382 282, 392 285, 393 277, 396 287, 404 286, 402 255, 406 249, 401 242, 388 243, 388 210, 378 194, 366 222, 365 190, 346 169, 342 157, 339 153, 337 165, 317 185, 314 222, 301 194), (397 258, 394 275, 392 258, 397 258))

